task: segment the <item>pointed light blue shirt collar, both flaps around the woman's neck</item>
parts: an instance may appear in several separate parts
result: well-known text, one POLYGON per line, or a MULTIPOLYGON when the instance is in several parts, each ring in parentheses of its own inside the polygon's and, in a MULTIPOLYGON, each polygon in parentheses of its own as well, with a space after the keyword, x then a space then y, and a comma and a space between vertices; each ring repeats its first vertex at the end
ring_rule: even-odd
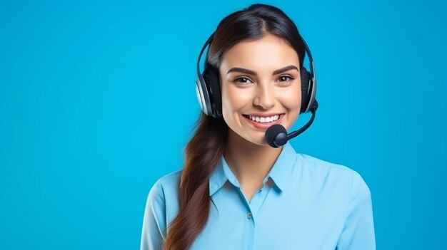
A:
MULTIPOLYGON (((288 182, 288 177, 291 176, 295 160, 296 152, 293 150, 292 145, 287 142, 286 145, 283 146, 283 149, 281 150, 278 159, 276 159, 275 164, 273 164, 270 172, 268 172, 268 175, 263 180, 263 183, 265 184, 268 177, 270 177, 276 184, 276 187, 283 191, 288 182)), ((209 195, 211 196, 217 192, 217 190, 224 186, 227 180, 234 186, 240 187, 238 179, 233 174, 230 167, 228 167, 225 157, 222 156, 219 164, 216 166, 216 170, 214 170, 209 178, 209 195)))

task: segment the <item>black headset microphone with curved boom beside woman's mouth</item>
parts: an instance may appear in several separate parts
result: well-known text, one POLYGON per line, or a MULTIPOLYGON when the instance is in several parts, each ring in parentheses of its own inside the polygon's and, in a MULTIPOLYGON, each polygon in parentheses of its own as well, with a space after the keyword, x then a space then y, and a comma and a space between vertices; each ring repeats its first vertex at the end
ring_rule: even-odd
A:
POLYGON ((306 125, 301 127, 299 130, 293 131, 290 134, 287 134, 287 130, 283 127, 283 125, 275 124, 268 127, 266 131, 266 140, 268 145, 271 147, 281 147, 285 145, 288 140, 291 140, 292 138, 306 131, 313 123, 313 119, 315 119, 316 108, 311 110, 311 113, 311 120, 309 120, 306 125))

